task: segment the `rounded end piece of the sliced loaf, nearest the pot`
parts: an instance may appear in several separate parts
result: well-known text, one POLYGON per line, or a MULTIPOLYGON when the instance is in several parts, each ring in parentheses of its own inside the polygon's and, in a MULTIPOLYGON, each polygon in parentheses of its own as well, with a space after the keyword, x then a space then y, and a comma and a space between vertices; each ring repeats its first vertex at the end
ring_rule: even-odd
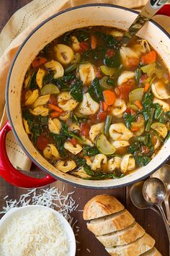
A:
POLYGON ((112 213, 117 213, 125 207, 112 195, 97 195, 91 198, 84 206, 84 220, 101 218, 112 213))

